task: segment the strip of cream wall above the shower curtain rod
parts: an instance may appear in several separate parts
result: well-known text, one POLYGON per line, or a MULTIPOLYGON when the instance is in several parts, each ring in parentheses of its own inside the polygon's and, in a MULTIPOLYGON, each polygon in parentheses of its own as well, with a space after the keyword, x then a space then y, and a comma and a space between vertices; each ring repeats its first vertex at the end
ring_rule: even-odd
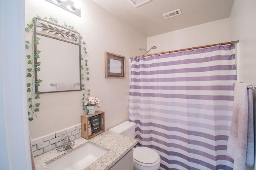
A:
POLYGON ((157 49, 150 53, 160 53, 229 41, 229 19, 226 18, 148 37, 148 49, 155 45, 157 49))

